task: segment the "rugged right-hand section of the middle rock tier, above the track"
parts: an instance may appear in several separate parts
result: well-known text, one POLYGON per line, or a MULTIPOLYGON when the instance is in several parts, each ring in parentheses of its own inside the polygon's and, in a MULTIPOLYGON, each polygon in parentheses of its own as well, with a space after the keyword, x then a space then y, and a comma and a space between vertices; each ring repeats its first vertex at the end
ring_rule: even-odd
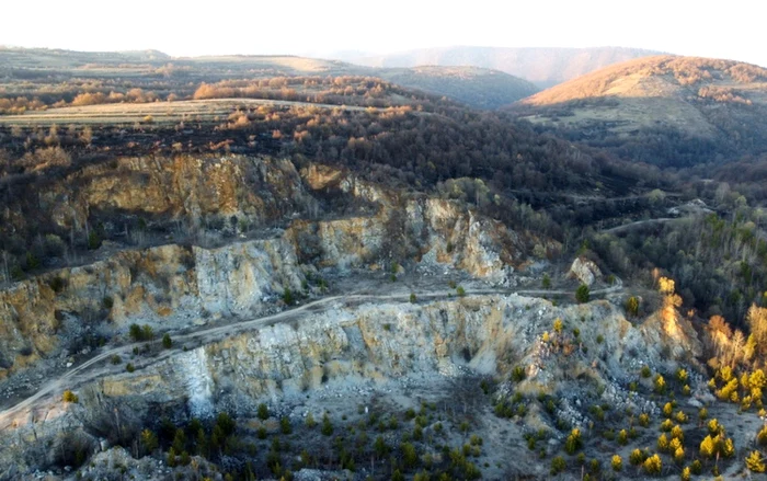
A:
POLYGON ((369 218, 296 221, 286 233, 299 259, 321 267, 360 267, 413 259, 506 282, 525 259, 519 234, 451 201, 421 198, 369 218))

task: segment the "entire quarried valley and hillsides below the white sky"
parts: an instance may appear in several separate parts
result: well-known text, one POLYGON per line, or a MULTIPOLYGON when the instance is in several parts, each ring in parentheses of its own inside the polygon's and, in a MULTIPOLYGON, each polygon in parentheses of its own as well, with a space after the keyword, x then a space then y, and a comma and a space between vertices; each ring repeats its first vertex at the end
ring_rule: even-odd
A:
POLYGON ((0 59, 0 480, 764 471, 757 67, 0 59))

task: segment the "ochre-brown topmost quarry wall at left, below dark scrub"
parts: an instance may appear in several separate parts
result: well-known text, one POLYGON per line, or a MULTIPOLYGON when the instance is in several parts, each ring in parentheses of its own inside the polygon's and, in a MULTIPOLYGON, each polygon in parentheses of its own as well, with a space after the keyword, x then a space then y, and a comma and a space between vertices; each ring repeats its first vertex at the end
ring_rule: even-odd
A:
POLYGON ((289 160, 243 156, 119 158, 79 169, 38 195, 39 215, 64 231, 123 215, 191 224, 209 216, 270 220, 310 199, 289 160))

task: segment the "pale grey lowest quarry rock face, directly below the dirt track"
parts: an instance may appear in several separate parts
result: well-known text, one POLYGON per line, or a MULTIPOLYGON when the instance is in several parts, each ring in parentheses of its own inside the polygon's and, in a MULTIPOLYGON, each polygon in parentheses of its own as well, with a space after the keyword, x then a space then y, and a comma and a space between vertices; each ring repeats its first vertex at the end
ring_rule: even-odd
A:
MULTIPOLYGON (((659 316, 633 324, 608 301, 554 307, 517 295, 339 306, 83 386, 78 390, 79 404, 61 410, 56 401, 47 411, 38 409, 33 417, 18 420, 13 435, 0 439, 0 472, 13 463, 23 470, 19 459, 32 460, 20 454, 45 446, 61 426, 88 430, 99 417, 85 413, 101 412, 103 406, 123 406, 136 422, 145 423, 153 422, 152 413, 168 409, 188 416, 208 417, 220 410, 248 416, 259 402, 290 404, 327 386, 386 389, 412 374, 433 380, 465 373, 507 379, 515 366, 526 366, 528 377, 518 388, 530 396, 573 393, 583 382, 597 382, 606 387, 606 401, 653 410, 651 400, 631 397, 621 385, 636 379, 643 365, 674 369, 688 360, 687 350, 695 354, 700 348, 685 318, 675 317, 679 331, 672 332, 659 316), (557 342, 543 341, 543 333, 554 335, 556 319, 563 321, 562 334, 557 334, 557 342), (575 327, 579 340, 566 334, 575 327), (659 359, 666 364, 659 365, 659 359)), ((577 424, 582 415, 576 406, 565 400, 562 410, 577 424)))

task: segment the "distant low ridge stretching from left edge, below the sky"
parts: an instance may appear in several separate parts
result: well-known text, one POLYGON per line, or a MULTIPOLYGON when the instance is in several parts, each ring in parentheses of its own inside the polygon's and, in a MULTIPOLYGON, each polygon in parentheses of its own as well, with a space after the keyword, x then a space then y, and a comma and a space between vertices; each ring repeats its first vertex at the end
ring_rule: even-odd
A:
MULTIPOLYGON (((0 47, 0 78, 35 79, 36 82, 51 82, 53 85, 72 77, 108 81, 115 76, 128 73, 153 75, 158 80, 183 76, 191 84, 274 77, 377 77, 483 110, 508 105, 539 90, 533 83, 508 73, 467 66, 375 68, 285 55, 170 57, 158 50, 110 53, 0 47)), ((108 94, 108 91, 104 93, 108 94)), ((25 91, 0 93, 0 101, 4 96, 22 94, 25 91)))

